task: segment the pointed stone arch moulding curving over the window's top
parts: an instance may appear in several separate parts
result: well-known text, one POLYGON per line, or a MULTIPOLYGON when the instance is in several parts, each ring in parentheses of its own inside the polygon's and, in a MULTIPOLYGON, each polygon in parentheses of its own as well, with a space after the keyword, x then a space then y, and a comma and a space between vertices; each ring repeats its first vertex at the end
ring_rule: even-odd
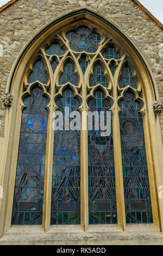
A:
MULTIPOLYGON (((156 86, 155 78, 153 76, 153 72, 151 68, 148 65, 148 62, 146 58, 141 54, 141 52, 138 50, 136 45, 134 45, 133 42, 130 41, 128 36, 124 34, 120 29, 117 28, 116 25, 114 25, 112 22, 105 20, 102 16, 98 15, 95 11, 92 11, 88 8, 81 8, 78 10, 71 11, 70 13, 66 15, 62 15, 58 17, 57 19, 54 19, 53 21, 49 22, 47 25, 43 26, 32 38, 27 42, 27 44, 23 47, 20 54, 18 54, 18 57, 12 66, 8 84, 7 84, 7 91, 12 91, 13 86, 13 77, 15 76, 15 71, 17 70, 17 66, 22 62, 22 59, 26 56, 26 63, 27 65, 28 60, 30 59, 30 56, 36 51, 36 48, 39 48, 45 39, 50 37, 52 33, 57 32, 62 27, 65 27, 67 25, 71 25, 74 23, 74 21, 90 21, 93 22, 95 25, 99 25, 101 22, 101 28, 104 29, 104 31, 109 35, 112 35, 116 42, 121 42, 121 48, 128 52, 130 56, 132 56, 132 59, 134 60, 135 66, 139 67, 139 69, 142 71, 141 77, 144 76, 148 79, 148 84, 144 84, 144 87, 150 87, 150 90, 152 92, 152 96, 154 100, 157 100, 159 97, 158 94, 158 88, 156 86), (73 19, 72 19, 73 18, 73 19), (39 43, 38 43, 39 42, 39 43), (30 49, 31 45, 33 45, 33 49, 30 49)), ((21 72, 22 75, 22 72, 21 72)))

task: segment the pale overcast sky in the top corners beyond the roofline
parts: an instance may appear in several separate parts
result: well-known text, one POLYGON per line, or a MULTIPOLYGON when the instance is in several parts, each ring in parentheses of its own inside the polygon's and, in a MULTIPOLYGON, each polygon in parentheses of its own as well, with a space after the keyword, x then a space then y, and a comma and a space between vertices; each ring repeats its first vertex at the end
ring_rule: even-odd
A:
MULTIPOLYGON (((0 0, 0 6, 7 2, 9 2, 9 0, 0 0)), ((139 2, 163 23, 163 0, 139 0, 139 2)))

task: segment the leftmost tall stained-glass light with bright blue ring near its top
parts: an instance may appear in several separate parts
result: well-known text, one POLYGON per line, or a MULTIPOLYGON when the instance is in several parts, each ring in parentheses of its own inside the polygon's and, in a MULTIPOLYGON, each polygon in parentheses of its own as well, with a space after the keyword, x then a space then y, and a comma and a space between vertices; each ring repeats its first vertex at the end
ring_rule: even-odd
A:
POLYGON ((24 103, 11 223, 42 224, 48 102, 34 88, 24 103))

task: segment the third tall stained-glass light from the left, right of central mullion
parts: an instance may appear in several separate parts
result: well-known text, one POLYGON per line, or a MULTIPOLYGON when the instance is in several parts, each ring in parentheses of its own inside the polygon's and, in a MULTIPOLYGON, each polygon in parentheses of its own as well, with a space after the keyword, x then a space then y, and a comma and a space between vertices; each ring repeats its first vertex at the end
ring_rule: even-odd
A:
MULTIPOLYGON (((101 90, 88 102, 91 112, 109 111, 111 104, 101 90)), ((88 131, 89 154, 89 224, 117 223, 114 149, 111 133, 102 136, 95 128, 98 117, 93 117, 93 129, 88 131)), ((104 115, 104 123, 106 115, 104 115)), ((111 121, 111 120, 110 120, 111 121)), ((112 127, 112 121, 111 121, 112 127)))

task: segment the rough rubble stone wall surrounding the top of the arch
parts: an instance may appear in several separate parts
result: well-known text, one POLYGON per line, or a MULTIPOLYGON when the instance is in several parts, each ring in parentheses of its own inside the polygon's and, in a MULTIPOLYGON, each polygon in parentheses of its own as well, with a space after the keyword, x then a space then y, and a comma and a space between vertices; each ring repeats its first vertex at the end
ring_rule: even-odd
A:
MULTIPOLYGON (((22 47, 49 21, 69 11, 90 8, 119 27, 146 57, 163 100, 163 32, 131 0, 18 0, 0 13, 0 95, 22 47)), ((1 106, 0 106, 1 108, 1 106)), ((160 117, 161 124, 163 116, 160 117)), ((163 126, 162 142, 163 142, 163 126)), ((4 109, 0 111, 0 137, 4 136, 4 109)))

